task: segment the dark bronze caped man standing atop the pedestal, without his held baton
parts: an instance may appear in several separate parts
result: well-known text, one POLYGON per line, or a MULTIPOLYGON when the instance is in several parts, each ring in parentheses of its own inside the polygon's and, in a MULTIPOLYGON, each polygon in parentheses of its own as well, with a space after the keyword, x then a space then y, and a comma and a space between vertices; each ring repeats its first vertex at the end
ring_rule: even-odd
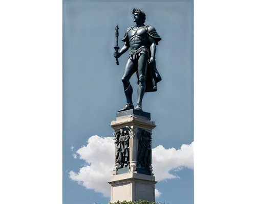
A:
POLYGON ((157 83, 162 79, 156 68, 156 45, 161 40, 154 27, 144 25, 146 15, 140 9, 133 9, 133 18, 136 23, 126 30, 122 39, 125 42, 119 53, 114 53, 119 58, 129 48, 129 59, 122 77, 126 105, 120 111, 133 109, 132 93, 130 84, 132 75, 136 72, 138 78, 138 101, 135 109, 142 111, 142 99, 145 92, 157 91, 157 83))

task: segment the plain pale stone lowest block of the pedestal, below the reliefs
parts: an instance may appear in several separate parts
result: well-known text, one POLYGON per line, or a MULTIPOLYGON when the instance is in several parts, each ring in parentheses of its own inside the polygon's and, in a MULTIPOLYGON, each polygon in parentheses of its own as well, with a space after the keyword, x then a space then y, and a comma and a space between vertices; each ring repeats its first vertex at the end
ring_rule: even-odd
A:
POLYGON ((155 176, 123 173, 111 176, 111 202, 148 200, 155 202, 155 176))

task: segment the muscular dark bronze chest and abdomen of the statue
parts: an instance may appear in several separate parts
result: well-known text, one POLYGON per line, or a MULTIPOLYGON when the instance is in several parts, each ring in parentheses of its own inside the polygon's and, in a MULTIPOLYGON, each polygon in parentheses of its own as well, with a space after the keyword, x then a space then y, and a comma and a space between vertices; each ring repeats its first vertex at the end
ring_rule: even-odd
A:
POLYGON ((147 48, 149 48, 149 41, 146 29, 146 26, 140 28, 132 27, 132 29, 127 33, 131 50, 136 50, 142 46, 146 46, 147 48))

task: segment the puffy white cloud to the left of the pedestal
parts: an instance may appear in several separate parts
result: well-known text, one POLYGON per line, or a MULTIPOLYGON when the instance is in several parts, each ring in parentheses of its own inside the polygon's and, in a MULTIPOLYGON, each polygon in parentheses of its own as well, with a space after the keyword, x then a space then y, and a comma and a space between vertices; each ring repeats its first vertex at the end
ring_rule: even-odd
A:
POLYGON ((94 189, 105 197, 110 197, 110 176, 113 170, 115 152, 112 138, 92 136, 87 146, 76 151, 78 158, 86 161, 78 173, 69 172, 70 179, 87 189, 94 189))

